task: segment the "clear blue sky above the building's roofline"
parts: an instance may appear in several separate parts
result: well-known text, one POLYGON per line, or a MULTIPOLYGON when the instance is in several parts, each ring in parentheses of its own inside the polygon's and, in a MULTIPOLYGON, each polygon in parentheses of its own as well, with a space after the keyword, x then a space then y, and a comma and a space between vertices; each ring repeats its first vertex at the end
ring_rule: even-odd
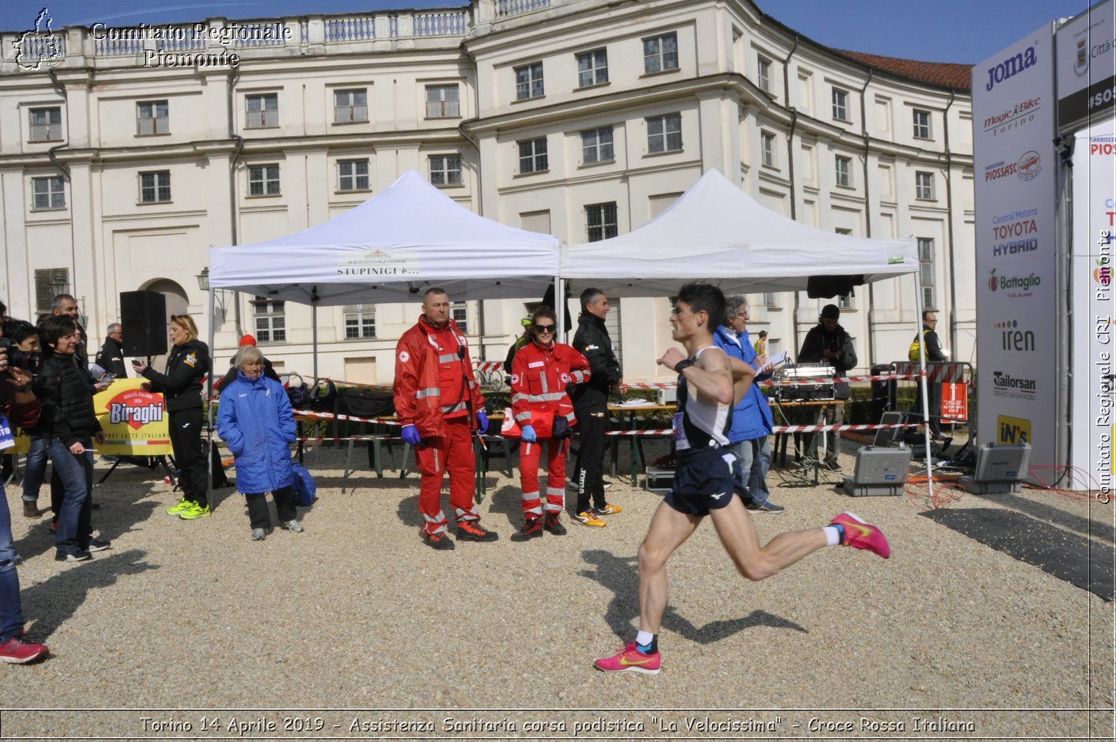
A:
MULTIPOLYGON (((0 0, 0 29, 23 30, 47 6, 54 27, 167 23, 225 18, 347 13, 389 8, 446 8, 466 0, 0 0)), ((757 0, 759 8, 815 41, 924 61, 975 64, 1039 26, 1088 8, 1088 0, 757 0)))

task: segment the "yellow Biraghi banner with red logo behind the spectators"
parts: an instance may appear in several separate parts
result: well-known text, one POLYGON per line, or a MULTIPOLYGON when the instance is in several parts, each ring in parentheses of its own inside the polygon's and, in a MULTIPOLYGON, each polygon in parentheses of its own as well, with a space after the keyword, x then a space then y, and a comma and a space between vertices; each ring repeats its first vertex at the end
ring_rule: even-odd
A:
POLYGON ((162 394, 144 391, 144 379, 117 379, 95 394, 93 408, 107 440, 97 453, 109 456, 171 454, 171 432, 162 394))

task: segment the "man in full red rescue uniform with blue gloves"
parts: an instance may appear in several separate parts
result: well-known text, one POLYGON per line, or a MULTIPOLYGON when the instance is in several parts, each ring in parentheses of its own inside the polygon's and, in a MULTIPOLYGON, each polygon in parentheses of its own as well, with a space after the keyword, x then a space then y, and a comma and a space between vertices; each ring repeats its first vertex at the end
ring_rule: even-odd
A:
POLYGON ((473 502, 473 430, 488 429, 484 397, 473 379, 469 344, 450 316, 444 288, 427 288, 422 315, 395 346, 392 399, 403 424, 401 436, 414 446, 422 479, 419 512, 422 539, 432 549, 454 548, 442 511, 442 479, 450 473, 450 504, 458 520, 458 541, 497 541, 480 524, 473 502), (477 428, 473 427, 475 421, 477 428))

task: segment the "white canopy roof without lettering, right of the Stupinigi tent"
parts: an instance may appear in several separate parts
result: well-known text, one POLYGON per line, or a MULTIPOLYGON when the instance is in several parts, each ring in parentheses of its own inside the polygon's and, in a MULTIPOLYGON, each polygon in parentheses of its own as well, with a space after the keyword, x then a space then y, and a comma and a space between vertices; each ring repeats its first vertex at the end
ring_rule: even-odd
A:
POLYGON ((626 235, 560 248, 575 289, 672 296, 690 280, 727 294, 805 291, 810 276, 879 280, 918 269, 914 239, 867 239, 798 223, 710 170, 665 211, 626 235))

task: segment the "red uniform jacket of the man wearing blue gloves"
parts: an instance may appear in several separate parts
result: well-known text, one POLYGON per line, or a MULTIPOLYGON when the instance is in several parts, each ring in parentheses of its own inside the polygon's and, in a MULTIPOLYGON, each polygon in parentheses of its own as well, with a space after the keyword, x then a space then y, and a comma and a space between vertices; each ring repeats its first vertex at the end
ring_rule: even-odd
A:
POLYGON ((468 342, 453 320, 439 330, 422 316, 395 346, 395 413, 423 438, 444 437, 445 420, 484 409, 468 342))

